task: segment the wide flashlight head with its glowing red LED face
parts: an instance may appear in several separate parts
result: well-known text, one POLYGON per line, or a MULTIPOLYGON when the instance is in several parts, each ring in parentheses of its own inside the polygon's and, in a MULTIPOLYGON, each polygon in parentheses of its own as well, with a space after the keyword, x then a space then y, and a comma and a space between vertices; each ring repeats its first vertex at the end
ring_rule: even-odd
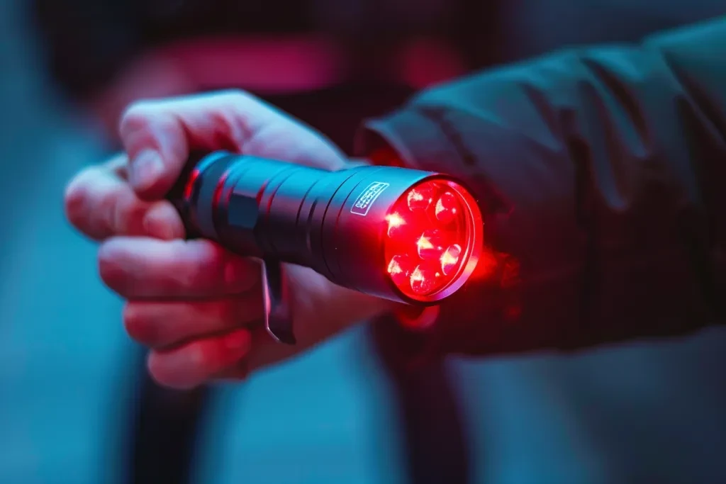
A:
POLYGON ((324 223, 334 278, 420 305, 462 287, 482 247, 481 212, 470 192, 446 176, 405 168, 369 167, 361 175, 324 223))

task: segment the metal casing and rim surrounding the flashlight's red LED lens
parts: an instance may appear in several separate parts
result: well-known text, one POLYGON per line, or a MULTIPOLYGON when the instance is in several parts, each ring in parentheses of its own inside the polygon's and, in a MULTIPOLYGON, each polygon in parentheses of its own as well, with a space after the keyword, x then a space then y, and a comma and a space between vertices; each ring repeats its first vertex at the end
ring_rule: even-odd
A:
POLYGON ((476 198, 453 176, 391 166, 369 166, 346 179, 338 186, 336 194, 326 200, 329 201, 327 209, 320 210, 320 254, 324 263, 317 266, 317 270, 343 287, 409 305, 436 305, 465 284, 484 250, 483 222, 476 198), (413 187, 429 181, 451 186, 455 196, 465 205, 469 230, 466 247, 462 248, 468 258, 444 287, 415 297, 397 287, 388 274, 386 217, 401 197, 407 196, 413 187), (364 214, 356 213, 358 208, 354 207, 360 197, 365 197, 370 186, 379 183, 387 184, 387 188, 366 206, 364 214))

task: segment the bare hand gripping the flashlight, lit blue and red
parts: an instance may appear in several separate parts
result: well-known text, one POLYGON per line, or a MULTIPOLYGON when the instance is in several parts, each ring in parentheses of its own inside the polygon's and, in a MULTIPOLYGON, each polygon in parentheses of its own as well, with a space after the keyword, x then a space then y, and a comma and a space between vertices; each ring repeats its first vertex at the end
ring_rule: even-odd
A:
POLYGON ((65 208, 74 226, 102 241, 101 277, 127 300, 126 330, 150 348, 149 370, 160 384, 245 377, 393 307, 287 266, 298 345, 275 343, 259 327, 258 263, 208 240, 184 240, 179 214, 163 199, 192 149, 343 168, 345 157, 320 134, 230 91, 136 103, 123 115, 121 140, 124 155, 70 182, 65 208))

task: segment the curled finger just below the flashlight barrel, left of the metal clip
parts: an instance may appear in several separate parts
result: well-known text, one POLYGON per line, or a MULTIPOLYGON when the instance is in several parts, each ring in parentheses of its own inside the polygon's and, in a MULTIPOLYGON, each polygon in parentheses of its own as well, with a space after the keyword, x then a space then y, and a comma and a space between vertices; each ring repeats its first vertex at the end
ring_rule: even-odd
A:
POLYGON ((115 237, 99 248, 103 282, 127 299, 201 299, 255 287, 258 263, 205 239, 115 237))

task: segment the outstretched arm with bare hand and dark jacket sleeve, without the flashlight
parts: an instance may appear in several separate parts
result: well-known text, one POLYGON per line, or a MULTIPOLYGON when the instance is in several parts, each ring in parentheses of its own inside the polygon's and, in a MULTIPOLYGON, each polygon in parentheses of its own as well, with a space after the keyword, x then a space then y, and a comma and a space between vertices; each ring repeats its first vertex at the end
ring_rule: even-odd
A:
MULTIPOLYGON (((425 92, 370 123, 362 154, 393 151, 466 179, 486 214, 477 278, 431 331, 389 340, 396 351, 581 348, 721 322, 725 45, 726 22, 716 22, 637 47, 563 52, 425 92)), ((179 240, 163 197, 190 149, 343 167, 320 134, 234 91, 139 102, 120 131, 125 154, 79 173, 65 210, 102 241, 101 277, 127 300, 124 324, 150 348, 159 382, 244 376, 396 311, 288 266, 301 344, 279 345, 258 325, 259 267, 211 241, 179 240)))

